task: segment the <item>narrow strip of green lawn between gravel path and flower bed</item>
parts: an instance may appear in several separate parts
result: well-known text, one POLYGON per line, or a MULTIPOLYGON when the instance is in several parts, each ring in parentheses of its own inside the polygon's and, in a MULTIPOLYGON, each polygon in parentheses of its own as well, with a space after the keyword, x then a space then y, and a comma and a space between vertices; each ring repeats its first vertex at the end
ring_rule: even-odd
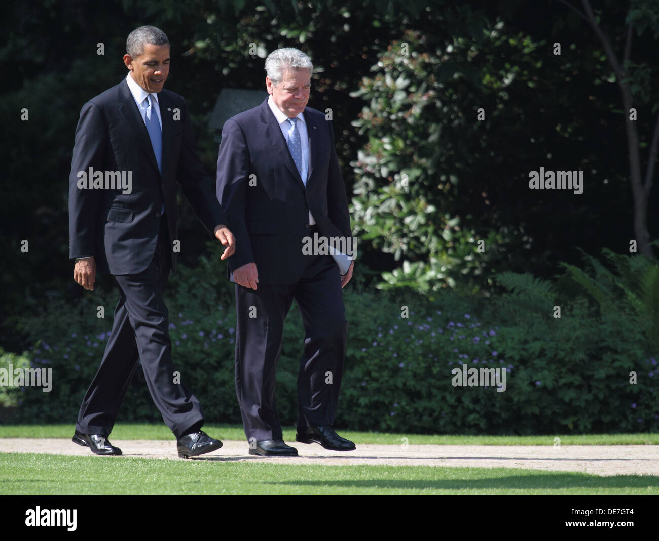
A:
MULTIPOLYGON (((74 425, 0 425, 0 438, 71 438, 74 425)), ((220 440, 246 440, 241 425, 204 425, 204 431, 220 440)), ((284 428, 284 440, 295 441, 295 428, 284 428)), ((659 445, 659 434, 548 434, 546 436, 426 436, 337 430, 356 444, 399 445, 407 438, 410 445, 548 445, 561 438, 563 445, 659 445)), ((162 423, 156 425, 117 425, 111 440, 173 440, 162 423)))

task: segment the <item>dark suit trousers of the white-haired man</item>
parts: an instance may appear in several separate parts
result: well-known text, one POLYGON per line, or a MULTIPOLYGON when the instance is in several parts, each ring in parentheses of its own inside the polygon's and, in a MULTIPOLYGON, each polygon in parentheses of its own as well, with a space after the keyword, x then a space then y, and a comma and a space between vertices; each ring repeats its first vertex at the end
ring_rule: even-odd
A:
POLYGON ((282 439, 275 409, 275 367, 283 321, 293 299, 305 334, 297 379, 297 426, 334 422, 347 322, 339 270, 330 255, 316 255, 297 284, 258 284, 256 291, 236 284, 236 394, 248 440, 282 439))

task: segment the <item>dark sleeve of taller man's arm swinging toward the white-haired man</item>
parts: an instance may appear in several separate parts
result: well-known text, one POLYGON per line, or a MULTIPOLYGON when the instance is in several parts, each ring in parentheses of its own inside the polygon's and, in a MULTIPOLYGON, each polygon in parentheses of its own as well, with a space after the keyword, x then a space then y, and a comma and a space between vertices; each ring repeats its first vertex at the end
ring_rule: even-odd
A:
MULTIPOLYGON (((183 99, 183 98, 181 98, 183 99)), ((225 213, 213 193, 213 179, 199 161, 188 108, 183 100, 183 143, 176 179, 190 207, 211 235, 215 226, 227 224, 225 213)))

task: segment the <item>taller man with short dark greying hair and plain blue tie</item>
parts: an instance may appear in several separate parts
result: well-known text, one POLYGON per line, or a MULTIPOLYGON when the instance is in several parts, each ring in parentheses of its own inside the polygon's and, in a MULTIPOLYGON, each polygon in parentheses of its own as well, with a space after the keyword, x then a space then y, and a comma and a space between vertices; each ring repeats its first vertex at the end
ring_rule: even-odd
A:
POLYGON ((137 28, 127 40, 124 63, 127 78, 82 107, 71 163, 74 280, 94 290, 98 267, 115 278, 120 297, 73 442, 99 455, 121 455, 107 438, 141 360, 151 396, 177 438, 179 457, 194 457, 222 444, 201 430, 200 403, 181 383, 171 359, 163 291, 180 249, 175 181, 204 226, 225 245, 222 259, 233 253, 235 241, 196 156, 185 101, 163 90, 167 36, 154 26, 137 28))

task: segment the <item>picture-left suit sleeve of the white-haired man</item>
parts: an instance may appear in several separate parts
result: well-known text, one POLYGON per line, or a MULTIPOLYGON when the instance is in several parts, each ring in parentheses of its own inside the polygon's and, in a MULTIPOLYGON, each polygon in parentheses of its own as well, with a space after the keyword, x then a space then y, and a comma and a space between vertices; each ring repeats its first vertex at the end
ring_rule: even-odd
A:
POLYGON ((217 157, 217 201, 227 213, 229 228, 236 238, 236 251, 227 260, 232 272, 254 262, 252 243, 245 224, 249 170, 250 155, 243 130, 230 118, 222 128, 217 157))

